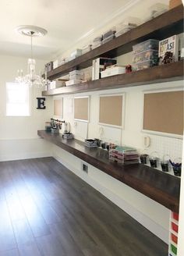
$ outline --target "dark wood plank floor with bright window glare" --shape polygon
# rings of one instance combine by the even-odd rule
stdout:
[[[168,246],[54,158],[0,162],[1,256],[166,256]]]

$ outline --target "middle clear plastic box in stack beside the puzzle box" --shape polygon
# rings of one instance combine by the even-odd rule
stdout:
[[[135,55],[133,55],[133,63],[140,63],[145,62],[147,60],[154,60],[158,57],[158,51],[157,50],[148,50],[146,52],[140,52]]]

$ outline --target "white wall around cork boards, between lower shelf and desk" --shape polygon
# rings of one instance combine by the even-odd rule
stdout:
[[[63,97],[63,119],[71,124],[71,131],[76,134],[76,138],[84,139],[83,126],[87,126],[87,137],[101,137],[102,140],[115,144],[126,144],[138,148],[140,151],[147,151],[151,155],[157,151],[159,158],[169,155],[172,160],[182,158],[182,138],[161,136],[153,133],[143,133],[143,92],[161,90],[182,90],[182,81],[175,81],[162,84],[150,84],[140,87],[129,87],[108,91],[87,92],[83,94],[64,95]],[[101,94],[125,94],[125,115],[124,127],[113,128],[102,126],[98,123],[99,116],[99,95]],[[90,121],[82,123],[73,119],[73,98],[76,96],[90,96]],[[61,96],[55,96],[59,98]],[[168,113],[169,118],[169,113]],[[76,125],[76,126],[75,126]],[[79,128],[77,128],[79,126]],[[104,134],[100,136],[100,127],[103,127]],[[79,137],[80,135],[80,137]],[[145,148],[143,137],[150,137],[150,147]],[[170,172],[172,174],[172,171]]]

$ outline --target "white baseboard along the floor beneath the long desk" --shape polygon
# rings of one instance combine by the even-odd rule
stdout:
[[[79,172],[79,170],[74,168],[73,165],[71,165],[69,162],[66,162],[65,159],[62,159],[60,155],[57,155],[54,152],[53,157],[58,162],[62,163],[62,165],[64,165],[66,168],[74,172],[76,176],[79,176],[82,180],[90,184],[91,187],[94,187],[94,189],[99,191],[110,201],[118,205],[119,208],[121,208],[124,212],[133,217],[133,219],[136,219],[137,222],[140,222],[140,224],[143,225],[145,228],[149,229],[151,233],[154,233],[157,237],[159,237],[166,244],[168,244],[168,230],[164,229],[162,226],[154,222],[152,219],[148,218],[147,215],[143,215],[142,212],[138,211],[136,208],[133,208],[132,205],[128,204],[117,194],[112,193],[111,190],[108,190],[106,187],[103,187],[100,183],[97,183],[96,180],[93,180],[90,176],[87,176],[86,173]]]

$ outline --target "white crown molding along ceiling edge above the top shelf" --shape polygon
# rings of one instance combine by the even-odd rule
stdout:
[[[101,28],[105,27],[108,23],[110,23],[112,20],[118,18],[119,16],[122,16],[123,13],[125,13],[127,10],[133,7],[133,5],[136,5],[141,0],[130,0],[126,5],[124,5],[122,8],[116,10],[115,12],[111,13],[111,16],[109,16],[107,19],[103,20],[97,27],[95,27],[92,30],[89,30],[87,33],[83,34],[81,37],[76,39],[76,41],[73,41],[73,44],[69,45],[69,48],[73,48],[75,44],[80,43],[80,41],[86,40],[87,37],[91,37],[97,30],[101,30]],[[69,50],[69,48],[65,49],[65,51],[58,51],[55,53],[55,57],[58,55],[62,55],[63,52],[66,52]]]

